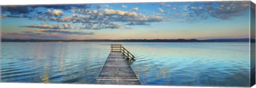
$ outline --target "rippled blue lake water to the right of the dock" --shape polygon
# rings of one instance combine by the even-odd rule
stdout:
[[[249,43],[141,43],[125,46],[135,56],[140,56],[132,68],[142,84],[249,84]],[[239,80],[242,78],[243,82]]]

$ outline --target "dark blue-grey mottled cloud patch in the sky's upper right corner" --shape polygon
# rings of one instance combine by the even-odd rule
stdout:
[[[218,18],[221,20],[231,20],[233,17],[244,14],[247,7],[250,6],[250,2],[249,1],[204,2],[200,7],[195,7],[195,6],[191,5],[189,10],[194,11],[197,17],[206,17],[205,14],[208,14],[213,18]]]

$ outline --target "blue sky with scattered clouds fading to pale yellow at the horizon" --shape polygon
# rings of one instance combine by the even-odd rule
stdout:
[[[249,38],[250,1],[1,6],[10,39]],[[255,6],[252,8],[255,13]]]

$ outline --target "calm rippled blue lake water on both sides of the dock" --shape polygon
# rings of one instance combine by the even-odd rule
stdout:
[[[249,43],[1,43],[1,82],[93,84],[123,44],[143,85],[249,86]]]

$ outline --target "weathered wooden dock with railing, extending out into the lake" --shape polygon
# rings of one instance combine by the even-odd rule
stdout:
[[[111,45],[111,52],[101,69],[96,84],[140,85],[139,78],[127,59],[135,60],[135,57],[122,45]]]

